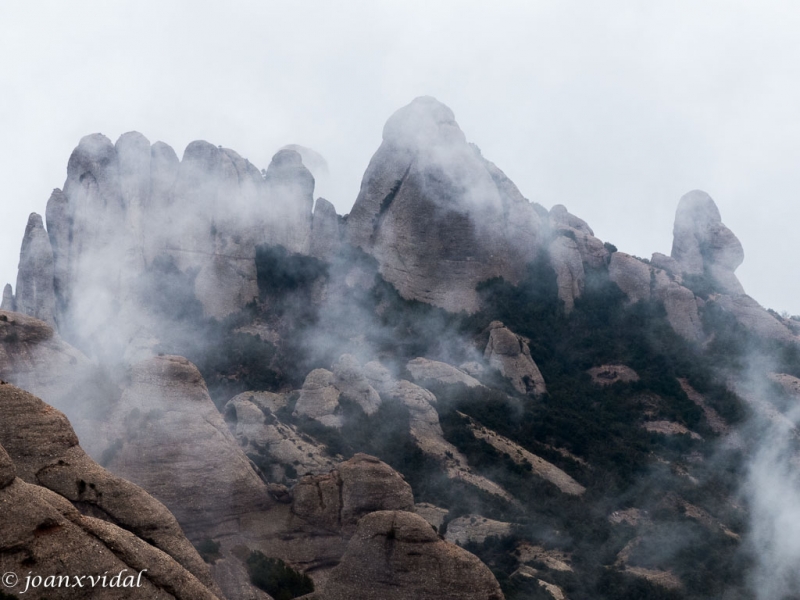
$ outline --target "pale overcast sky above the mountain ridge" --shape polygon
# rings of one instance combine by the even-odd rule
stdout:
[[[717,201],[762,304],[800,314],[796,2],[0,3],[0,283],[86,134],[195,139],[265,168],[328,160],[346,213],[386,119],[419,95],[545,207],[669,254],[680,196]]]

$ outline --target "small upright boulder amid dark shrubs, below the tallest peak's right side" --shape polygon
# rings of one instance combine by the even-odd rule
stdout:
[[[500,321],[489,325],[489,343],[483,357],[509,379],[519,393],[538,396],[547,392],[544,377],[531,358],[527,340]]]

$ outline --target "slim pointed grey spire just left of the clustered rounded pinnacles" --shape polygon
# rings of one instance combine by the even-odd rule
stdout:
[[[53,277],[50,238],[44,230],[42,217],[31,213],[25,228],[25,237],[22,238],[14,306],[18,312],[36,317],[51,327],[56,326]]]

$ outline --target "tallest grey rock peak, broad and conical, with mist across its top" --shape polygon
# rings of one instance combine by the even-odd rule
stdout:
[[[518,281],[541,228],[534,205],[467,143],[453,112],[421,97],[386,123],[347,239],[378,260],[404,297],[475,311],[475,286]]]

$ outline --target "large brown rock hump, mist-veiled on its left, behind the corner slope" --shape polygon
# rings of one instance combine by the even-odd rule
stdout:
[[[194,365],[160,356],[128,378],[107,419],[111,471],[161,500],[192,538],[238,533],[273,504]]]

